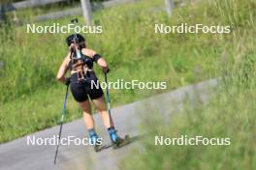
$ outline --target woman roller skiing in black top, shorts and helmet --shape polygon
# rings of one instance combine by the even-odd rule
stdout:
[[[104,93],[101,87],[91,87],[94,82],[97,84],[98,78],[93,71],[93,63],[98,64],[102,70],[109,71],[107,62],[92,49],[86,47],[85,39],[80,34],[73,34],[66,39],[70,48],[67,56],[62,62],[57,73],[57,80],[70,84],[70,89],[74,99],[76,99],[82,109],[83,121],[88,130],[90,142],[94,145],[95,151],[100,150],[99,137],[95,131],[94,120],[90,111],[90,102],[92,100],[95,107],[99,110],[104,126],[108,129],[112,143],[119,145],[124,141],[120,138],[112,125],[107,106],[104,100]],[[70,70],[71,76],[65,77],[66,72]]]

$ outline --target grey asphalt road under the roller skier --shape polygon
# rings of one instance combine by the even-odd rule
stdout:
[[[95,153],[91,146],[69,145],[60,146],[57,164],[53,164],[56,146],[27,145],[27,137],[49,138],[57,135],[59,127],[48,128],[28,136],[0,145],[0,170],[117,170],[119,161],[129,153],[129,150],[140,149],[140,125],[145,117],[157,112],[170,121],[170,113],[174,109],[182,109],[182,100],[189,101],[191,105],[195,99],[203,102],[208,100],[209,89],[217,84],[216,79],[208,80],[196,85],[186,86],[175,91],[160,94],[155,97],[133,102],[112,109],[112,117],[118,133],[122,136],[129,134],[131,144],[118,150],[109,147],[111,142],[107,130],[103,127],[98,114],[94,115],[97,131],[104,139],[107,149]],[[71,122],[63,126],[62,137],[75,136],[84,138],[87,132],[82,120]]]

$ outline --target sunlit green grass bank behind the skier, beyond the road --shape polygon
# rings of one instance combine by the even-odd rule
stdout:
[[[104,33],[85,37],[88,46],[107,59],[112,70],[109,74],[111,81],[123,78],[126,81],[139,79],[168,83],[166,90],[112,90],[112,106],[218,76],[221,72],[218,66],[223,64],[220,61],[226,57],[223,51],[233,46],[233,38],[241,30],[252,27],[252,22],[246,20],[253,17],[245,12],[253,9],[250,6],[244,10],[248,3],[241,6],[242,15],[231,19],[225,16],[225,13],[233,14],[231,10],[216,13],[217,5],[213,3],[209,6],[208,2],[176,8],[171,19],[164,11],[152,11],[163,5],[162,0],[142,1],[94,14],[94,22],[103,25]],[[79,16],[79,19],[82,20],[82,17]],[[68,24],[69,21],[70,17],[37,24]],[[231,24],[236,34],[154,33],[154,23],[179,25],[181,22]],[[0,69],[2,143],[56,125],[65,87],[56,82],[55,75],[68,50],[65,44],[68,35],[27,34],[25,26],[14,25],[1,27],[0,32],[0,62],[4,64]],[[101,71],[96,71],[103,81]],[[70,98],[67,121],[80,118],[79,110],[74,99]]]

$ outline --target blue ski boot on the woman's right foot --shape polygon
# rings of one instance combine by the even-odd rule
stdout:
[[[112,148],[117,149],[123,147],[129,143],[129,135],[125,135],[124,138],[121,138],[117,135],[116,130],[114,128],[108,128],[110,133],[110,137],[112,140]]]

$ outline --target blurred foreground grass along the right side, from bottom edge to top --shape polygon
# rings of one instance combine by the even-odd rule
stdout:
[[[196,102],[183,111],[174,109],[167,118],[146,119],[142,128],[148,131],[141,150],[132,151],[120,163],[122,169],[247,169],[256,168],[256,50],[255,1],[208,1],[208,13],[221,14],[222,20],[234,25],[229,42],[223,43],[218,70],[222,77],[212,91],[208,104]],[[214,6],[212,6],[214,4]],[[240,10],[238,10],[240,8]],[[254,9],[254,10],[253,10]],[[215,13],[213,13],[215,11]],[[216,13],[221,12],[221,13]],[[226,40],[227,41],[227,40]],[[184,101],[185,102],[185,101]],[[164,104],[164,101],[163,101]],[[153,125],[153,126],[148,126]],[[155,136],[175,138],[231,138],[230,146],[155,146]]]

